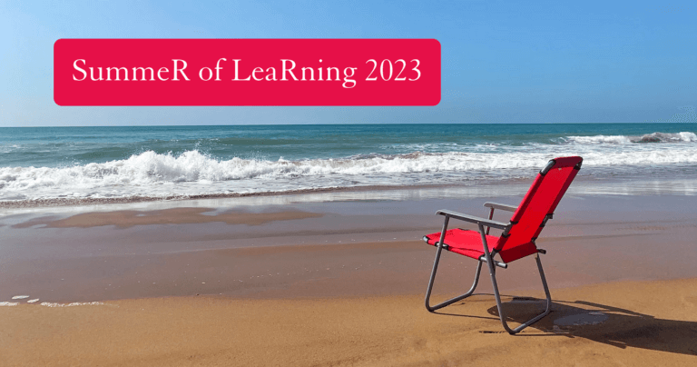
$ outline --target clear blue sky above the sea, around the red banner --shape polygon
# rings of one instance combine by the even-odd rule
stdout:
[[[0,0],[0,126],[637,123],[697,104],[693,2]],[[60,107],[59,38],[437,38],[435,107]],[[697,122],[697,121],[692,121]]]

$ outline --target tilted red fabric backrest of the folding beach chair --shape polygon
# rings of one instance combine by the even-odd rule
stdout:
[[[508,234],[502,235],[496,243],[496,252],[501,254],[504,262],[537,252],[535,239],[574,181],[582,162],[583,158],[575,156],[556,158],[537,174],[535,182],[511,217],[513,225]]]

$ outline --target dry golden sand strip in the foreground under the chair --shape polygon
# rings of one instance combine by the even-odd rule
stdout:
[[[697,363],[697,279],[607,283],[553,295],[554,312],[516,336],[502,332],[486,294],[437,313],[427,312],[419,295],[23,304],[0,308],[0,354],[5,366]],[[512,322],[541,307],[507,300]]]

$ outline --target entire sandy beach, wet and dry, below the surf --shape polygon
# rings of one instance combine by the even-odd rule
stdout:
[[[693,196],[568,194],[538,241],[553,312],[518,336],[486,274],[466,302],[423,305],[433,213],[485,215],[487,200],[520,197],[8,213],[0,354],[10,366],[697,362]],[[435,297],[464,292],[475,266],[448,253]],[[498,277],[510,322],[539,312],[532,257]]]

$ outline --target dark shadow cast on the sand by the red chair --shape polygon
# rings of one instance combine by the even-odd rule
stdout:
[[[525,322],[531,314],[545,310],[545,300],[512,298],[502,304],[506,321],[512,326],[514,322]],[[496,305],[487,311],[498,320]],[[436,313],[467,317],[464,314]],[[632,347],[697,356],[697,322],[659,319],[604,304],[554,301],[552,312],[530,328],[542,333],[529,330],[517,335],[584,338],[623,349]],[[496,330],[498,332],[501,331]]]

